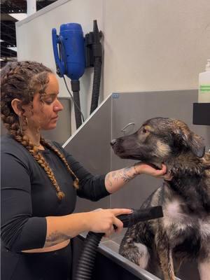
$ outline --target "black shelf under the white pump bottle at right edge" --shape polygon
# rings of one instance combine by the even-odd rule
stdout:
[[[210,125],[210,103],[193,103],[193,125]]]

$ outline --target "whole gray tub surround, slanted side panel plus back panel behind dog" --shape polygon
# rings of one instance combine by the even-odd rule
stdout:
[[[113,138],[123,136],[123,132],[120,130],[128,123],[133,122],[135,125],[130,126],[125,134],[136,131],[148,118],[158,116],[179,118],[185,121],[193,131],[205,139],[205,144],[209,148],[210,127],[192,124],[193,102],[197,102],[197,90],[112,94],[86,121],[85,125],[69,139],[66,150],[93,174],[103,174],[110,170],[133,165],[134,161],[122,160],[114,155],[109,142]],[[99,202],[78,199],[76,211],[88,211],[98,207],[139,208],[146,197],[161,183],[160,179],[141,175],[118,193]],[[122,237],[123,235],[111,237],[116,248]],[[182,280],[198,280],[195,263],[183,266],[179,277]],[[151,277],[151,279],[153,278]]]

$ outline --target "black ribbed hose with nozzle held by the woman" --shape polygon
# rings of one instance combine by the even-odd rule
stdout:
[[[157,206],[148,209],[134,210],[132,214],[120,215],[118,218],[123,222],[123,227],[127,228],[141,221],[161,218],[162,216],[162,207]],[[99,246],[99,242],[101,241],[103,235],[104,233],[88,232],[85,239],[83,252],[80,255],[78,262],[75,280],[91,279],[97,247]]]

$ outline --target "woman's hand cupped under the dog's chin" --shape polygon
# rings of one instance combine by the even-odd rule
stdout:
[[[137,172],[137,174],[148,174],[155,178],[161,178],[167,181],[171,181],[173,178],[170,172],[167,173],[167,167],[166,165],[163,164],[162,164],[162,169],[155,169],[151,167],[151,165],[147,165],[144,162],[139,162],[136,165],[134,165],[134,169]]]

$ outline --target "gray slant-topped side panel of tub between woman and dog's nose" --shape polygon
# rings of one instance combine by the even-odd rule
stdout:
[[[111,99],[108,99],[76,132],[65,148],[92,174],[106,174],[110,170],[110,139]],[[78,198],[76,211],[109,207],[110,197],[105,197],[99,202]]]

